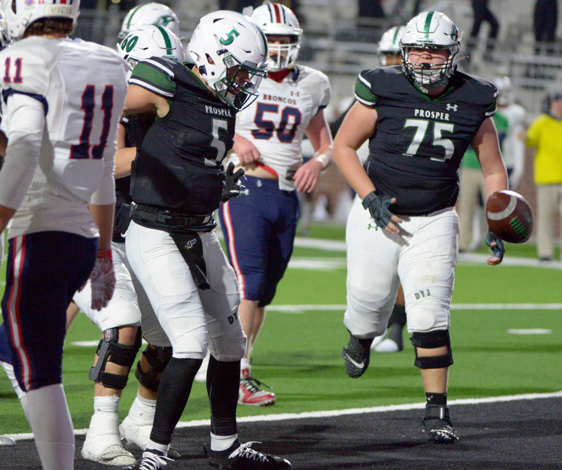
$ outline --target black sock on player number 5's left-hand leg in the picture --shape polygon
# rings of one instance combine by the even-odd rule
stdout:
[[[171,358],[158,386],[156,413],[150,439],[157,444],[170,444],[172,433],[191,393],[195,374],[202,359]]]

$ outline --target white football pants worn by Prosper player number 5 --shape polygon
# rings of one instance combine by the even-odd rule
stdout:
[[[129,263],[170,339],[175,358],[203,359],[209,346],[217,360],[239,360],[246,351],[246,335],[238,319],[236,276],[215,231],[199,236],[211,284],[208,290],[196,287],[169,233],[134,221],[125,237]]]

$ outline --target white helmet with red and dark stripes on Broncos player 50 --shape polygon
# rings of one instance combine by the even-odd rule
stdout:
[[[290,44],[268,42],[268,70],[277,72],[294,66],[302,41],[302,29],[294,13],[280,3],[266,1],[253,11],[251,18],[264,31],[268,40],[269,35],[291,37]]]

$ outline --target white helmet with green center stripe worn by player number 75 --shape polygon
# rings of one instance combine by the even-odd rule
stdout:
[[[412,64],[411,48],[446,49],[445,64]],[[417,85],[427,86],[448,79],[455,73],[460,49],[459,30],[451,19],[439,11],[424,11],[408,21],[400,40],[402,67]]]

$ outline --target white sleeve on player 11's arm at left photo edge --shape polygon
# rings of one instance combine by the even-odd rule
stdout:
[[[45,109],[37,98],[14,93],[3,106],[2,120],[8,147],[0,171],[0,204],[17,210],[39,164]]]

